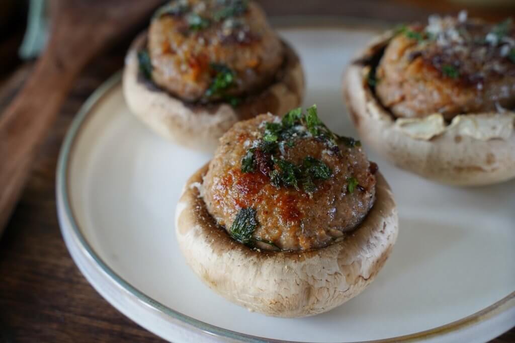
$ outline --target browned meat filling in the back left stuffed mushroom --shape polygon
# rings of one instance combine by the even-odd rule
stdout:
[[[231,101],[271,82],[283,46],[253,2],[175,0],[151,21],[148,57],[152,81],[171,94]]]

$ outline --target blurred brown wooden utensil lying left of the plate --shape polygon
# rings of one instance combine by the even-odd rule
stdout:
[[[137,26],[160,0],[55,0],[42,56],[0,117],[0,234],[72,82],[102,48]],[[122,7],[123,6],[123,7]],[[92,34],[94,32],[94,34]],[[34,115],[37,113],[38,115]]]

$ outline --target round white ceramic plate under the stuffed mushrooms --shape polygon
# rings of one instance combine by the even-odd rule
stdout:
[[[355,135],[341,74],[373,32],[290,28],[281,34],[304,63],[304,105],[316,102],[329,127]],[[314,317],[250,313],[217,296],[185,265],[174,210],[187,177],[210,156],[140,124],[125,105],[119,75],[84,105],[64,142],[57,175],[62,233],[102,296],[175,342],[486,341],[515,325],[515,182],[452,188],[369,157],[398,202],[398,242],[362,295]]]

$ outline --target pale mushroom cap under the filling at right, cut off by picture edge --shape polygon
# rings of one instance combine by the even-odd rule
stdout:
[[[367,82],[367,64],[388,44],[377,37],[350,64],[343,93],[361,139],[394,165],[453,185],[485,185],[515,177],[515,113],[459,114],[450,124],[439,113],[396,119]]]

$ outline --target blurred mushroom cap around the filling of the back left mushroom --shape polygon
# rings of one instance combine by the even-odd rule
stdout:
[[[302,66],[293,48],[284,41],[285,60],[276,80],[261,93],[245,97],[236,107],[226,102],[188,103],[145,80],[137,56],[145,43],[146,31],[134,39],[128,51],[123,72],[125,100],[136,117],[177,144],[212,152],[220,136],[234,123],[267,111],[283,114],[302,102]]]

